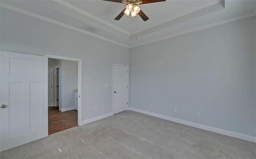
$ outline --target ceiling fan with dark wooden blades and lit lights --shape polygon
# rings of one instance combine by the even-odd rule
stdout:
[[[126,4],[126,8],[115,18],[115,20],[120,20],[124,14],[127,16],[130,15],[134,17],[137,14],[144,20],[147,21],[149,18],[140,10],[140,7],[138,7],[138,4],[148,4],[148,3],[155,3],[155,2],[163,2],[166,0],[104,0],[104,1],[110,1],[110,2],[117,2],[117,3],[124,3]]]

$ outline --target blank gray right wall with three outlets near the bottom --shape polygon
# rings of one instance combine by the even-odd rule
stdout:
[[[256,136],[255,35],[252,17],[130,49],[129,106]]]

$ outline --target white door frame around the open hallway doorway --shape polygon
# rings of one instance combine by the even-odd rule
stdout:
[[[78,125],[82,125],[82,59],[74,59],[70,57],[62,57],[55,55],[44,55],[51,59],[69,60],[78,62]]]

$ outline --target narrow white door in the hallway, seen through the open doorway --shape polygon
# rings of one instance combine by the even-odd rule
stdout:
[[[53,68],[48,68],[48,107],[54,106],[53,99]]]

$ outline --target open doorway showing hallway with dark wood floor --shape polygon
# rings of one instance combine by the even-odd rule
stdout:
[[[80,121],[80,61],[61,58],[48,57],[49,135],[78,126]]]

